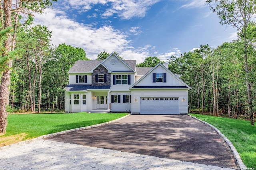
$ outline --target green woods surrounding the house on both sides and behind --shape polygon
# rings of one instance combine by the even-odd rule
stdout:
[[[11,0],[0,2],[1,120],[7,119],[7,116],[2,117],[2,113],[6,115],[5,110],[8,113],[63,111],[67,72],[77,60],[88,60],[86,51],[66,44],[51,45],[52,32],[46,26],[31,27],[32,13],[51,6],[51,0],[23,0],[20,2],[24,4],[17,8],[5,6],[11,4]],[[211,0],[206,2],[212,3]],[[256,24],[253,22],[256,2],[222,0],[216,3],[212,11],[218,14],[221,24],[238,29],[238,39],[215,49],[205,44],[180,56],[172,55],[168,59],[168,69],[182,75],[180,78],[192,87],[188,94],[190,112],[236,119],[239,116],[250,119],[253,125],[252,116],[256,113]],[[97,59],[102,60],[108,54],[99,51]],[[159,62],[163,61],[149,56],[137,67],[154,67]],[[5,102],[9,103],[6,108]]]

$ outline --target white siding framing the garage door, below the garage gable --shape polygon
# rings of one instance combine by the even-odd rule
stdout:
[[[140,113],[140,98],[141,97],[175,97],[179,98],[180,113],[188,113],[188,89],[132,89],[132,113]],[[137,99],[137,101],[135,101]],[[183,101],[185,99],[185,101]]]

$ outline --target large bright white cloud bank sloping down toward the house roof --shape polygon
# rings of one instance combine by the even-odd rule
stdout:
[[[102,26],[96,29],[92,25],[69,19],[63,11],[53,9],[47,9],[42,15],[35,14],[34,19],[34,25],[45,25],[48,30],[52,31],[51,43],[56,46],[66,43],[73,47],[81,47],[89,59],[96,59],[98,53],[102,51],[108,53],[116,51],[124,59],[136,59],[137,63],[143,62],[146,57],[150,56],[151,45],[135,49],[129,45],[128,37],[112,26]]]

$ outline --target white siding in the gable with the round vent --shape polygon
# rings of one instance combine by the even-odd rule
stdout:
[[[111,59],[115,59],[116,63],[112,64]],[[116,58],[114,55],[109,57],[107,60],[103,62],[103,64],[111,71],[132,71],[126,64]]]

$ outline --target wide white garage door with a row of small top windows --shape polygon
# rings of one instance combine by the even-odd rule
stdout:
[[[171,115],[180,114],[179,98],[141,97],[140,114]]]

